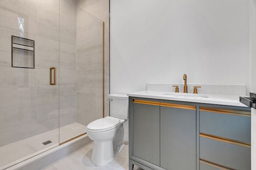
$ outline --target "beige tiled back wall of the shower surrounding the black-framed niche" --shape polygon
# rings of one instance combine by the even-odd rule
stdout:
[[[60,125],[76,121],[76,8],[71,4],[0,1],[0,147],[59,127],[59,86]],[[11,67],[11,35],[35,41],[35,69]],[[57,80],[60,76],[56,86],[49,85],[50,67],[57,68]]]

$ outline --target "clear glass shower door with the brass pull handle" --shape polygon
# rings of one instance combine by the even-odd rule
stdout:
[[[34,46],[12,43],[12,35],[30,39]],[[22,66],[33,56],[24,49],[34,52],[34,66],[31,62],[25,65],[31,68],[12,67],[12,55]],[[59,76],[59,2],[1,0],[0,56],[0,169],[4,169],[59,143],[59,84],[50,85],[51,67]]]

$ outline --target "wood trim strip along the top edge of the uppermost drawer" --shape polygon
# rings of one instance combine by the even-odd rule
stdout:
[[[218,108],[210,108],[210,107],[200,107],[200,111],[208,111],[208,112],[222,113],[222,114],[228,114],[228,115],[251,117],[251,112],[250,111],[218,109]]]

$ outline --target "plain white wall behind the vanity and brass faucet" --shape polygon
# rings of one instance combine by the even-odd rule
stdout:
[[[111,0],[110,93],[148,82],[246,84],[248,0]]]

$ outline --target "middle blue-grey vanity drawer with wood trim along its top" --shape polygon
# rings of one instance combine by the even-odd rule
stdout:
[[[237,170],[250,170],[251,148],[249,145],[200,135],[200,160]]]

